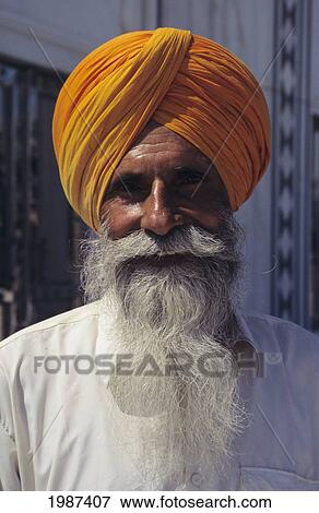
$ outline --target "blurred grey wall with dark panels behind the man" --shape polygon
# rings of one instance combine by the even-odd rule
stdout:
[[[260,80],[272,163],[238,219],[245,307],[319,331],[319,2],[0,0],[0,338],[81,303],[76,240],[51,145],[58,91],[94,47],[176,26],[212,37]]]

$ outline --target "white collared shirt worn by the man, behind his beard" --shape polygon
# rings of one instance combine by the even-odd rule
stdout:
[[[80,373],[88,363],[79,360],[76,370],[74,358],[67,372],[67,356],[113,354],[111,315],[99,314],[98,305],[56,315],[0,344],[0,490],[142,489],[141,469],[115,441],[109,377]],[[182,486],[165,482],[160,489],[319,490],[319,341],[270,315],[238,312],[237,319],[243,338],[263,355],[263,377],[256,369],[239,377],[251,421],[235,441],[236,457],[217,482],[194,466]],[[44,360],[50,356],[56,360]],[[62,370],[45,370],[45,361],[52,371],[61,356]],[[127,415],[118,415],[126,422]]]

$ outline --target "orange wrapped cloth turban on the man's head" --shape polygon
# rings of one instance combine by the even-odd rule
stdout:
[[[64,193],[96,231],[111,176],[151,118],[211,159],[233,211],[267,169],[267,103],[238,57],[190,31],[161,27],[122,34],[76,65],[54,112],[54,147]]]

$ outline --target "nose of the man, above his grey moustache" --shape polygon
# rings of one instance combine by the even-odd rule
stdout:
[[[155,179],[152,183],[152,190],[143,204],[141,229],[164,236],[182,224],[182,215],[174,213],[169,204],[167,186],[163,180]]]

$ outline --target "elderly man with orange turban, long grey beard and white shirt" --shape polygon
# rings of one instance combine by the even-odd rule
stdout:
[[[270,156],[247,67],[125,34],[67,80],[54,143],[96,232],[86,305],[1,343],[2,489],[319,490],[318,341],[239,308],[233,212]]]

